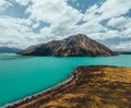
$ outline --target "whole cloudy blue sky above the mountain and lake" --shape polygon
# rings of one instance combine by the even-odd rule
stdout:
[[[130,0],[0,0],[0,46],[26,48],[85,34],[131,50]]]

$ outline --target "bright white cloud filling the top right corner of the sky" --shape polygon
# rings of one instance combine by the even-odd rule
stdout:
[[[102,13],[100,19],[110,19],[126,14],[130,9],[130,0],[106,0],[98,12]]]

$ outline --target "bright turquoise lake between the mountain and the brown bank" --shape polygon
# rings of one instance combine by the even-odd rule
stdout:
[[[0,106],[57,85],[78,65],[131,67],[131,55],[22,57],[14,53],[0,53]]]

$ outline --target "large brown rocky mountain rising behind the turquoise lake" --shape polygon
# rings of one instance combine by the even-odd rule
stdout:
[[[55,57],[96,57],[116,56],[106,46],[91,39],[90,37],[78,34],[62,40],[52,40],[47,44],[32,46],[19,55],[23,56],[55,56]]]

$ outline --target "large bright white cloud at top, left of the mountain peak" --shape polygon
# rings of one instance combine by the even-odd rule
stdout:
[[[33,5],[28,7],[26,12],[31,13],[31,20],[46,22],[51,25],[50,27],[41,28],[40,34],[52,39],[60,39],[60,37],[63,38],[71,35],[75,24],[83,17],[80,11],[68,5],[67,0],[39,2],[33,0]]]

